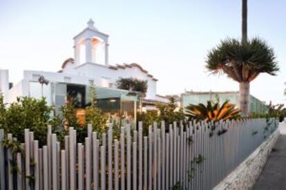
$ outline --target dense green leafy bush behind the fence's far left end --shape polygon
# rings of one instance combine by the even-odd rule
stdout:
[[[34,132],[39,145],[46,144],[47,125],[53,124],[51,117],[52,106],[47,106],[46,99],[30,97],[17,98],[17,102],[6,106],[3,104],[3,96],[0,95],[0,128],[6,134],[12,133],[19,142],[24,141],[24,129]]]

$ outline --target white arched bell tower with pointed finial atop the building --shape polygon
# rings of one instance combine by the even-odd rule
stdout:
[[[99,32],[92,19],[73,39],[76,66],[84,63],[108,65],[108,35]]]

